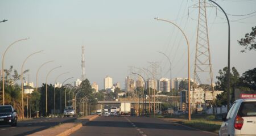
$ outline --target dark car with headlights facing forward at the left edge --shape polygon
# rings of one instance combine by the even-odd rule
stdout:
[[[0,124],[17,125],[17,113],[11,105],[0,105]]]

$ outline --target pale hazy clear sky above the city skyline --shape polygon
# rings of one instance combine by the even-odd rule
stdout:
[[[255,11],[255,0],[216,1],[228,14],[244,15]],[[35,1],[1,0],[0,54],[12,42],[27,38],[11,46],[5,55],[5,67],[11,65],[21,72],[24,59],[34,54],[24,63],[26,80],[34,82],[40,65],[47,63],[39,71],[39,86],[74,77],[66,83],[81,79],[81,46],[85,46],[85,73],[90,83],[96,82],[103,88],[104,78],[109,75],[113,82],[124,88],[125,77],[130,67],[144,67],[151,70],[150,63],[158,62],[158,77],[170,77],[168,59],[158,51],[166,53],[172,62],[172,78],[187,77],[187,45],[181,32],[170,23],[155,20],[155,17],[171,20],[186,33],[191,52],[191,78],[196,50],[196,30],[199,9],[192,7],[198,1],[191,0],[94,0],[94,1]],[[207,8],[210,55],[212,58],[213,80],[216,82],[218,70],[228,63],[228,25],[224,14],[215,7]],[[237,40],[251,32],[256,25],[256,14],[230,16],[231,56],[230,66],[236,67],[240,75],[256,67],[255,51],[246,51]],[[2,65],[2,61],[0,62]],[[144,75],[143,75],[144,76]],[[135,78],[135,76],[131,76]],[[207,79],[205,79],[207,80]]]

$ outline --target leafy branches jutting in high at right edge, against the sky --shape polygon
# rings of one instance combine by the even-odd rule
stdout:
[[[242,38],[240,41],[238,40],[238,44],[245,46],[246,50],[256,50],[256,26],[251,29],[252,31],[250,33],[245,34],[245,38]],[[245,49],[241,50],[241,52],[245,52]]]

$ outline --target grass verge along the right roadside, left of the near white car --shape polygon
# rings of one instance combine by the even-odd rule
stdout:
[[[215,116],[212,114],[192,114],[191,121],[188,121],[188,115],[174,115],[170,114],[167,116],[157,115],[154,117],[163,118],[163,120],[176,122],[178,124],[183,124],[186,126],[190,126],[191,128],[200,129],[204,131],[211,131],[214,133],[218,133],[220,126],[222,124],[221,120],[216,120]]]

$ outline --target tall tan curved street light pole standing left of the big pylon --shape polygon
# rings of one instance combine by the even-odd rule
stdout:
[[[188,39],[187,36],[185,35],[185,33],[183,32],[183,30],[176,25],[175,23],[172,23],[169,20],[165,20],[165,19],[159,19],[159,18],[155,18],[156,20],[160,20],[160,21],[164,21],[164,22],[168,22],[171,23],[173,25],[175,25],[175,27],[179,28],[179,30],[183,33],[183,36],[185,37],[185,40],[187,41],[187,46],[188,46],[188,120],[191,120],[191,109],[190,109],[190,58],[189,58],[189,44],[188,44]]]

